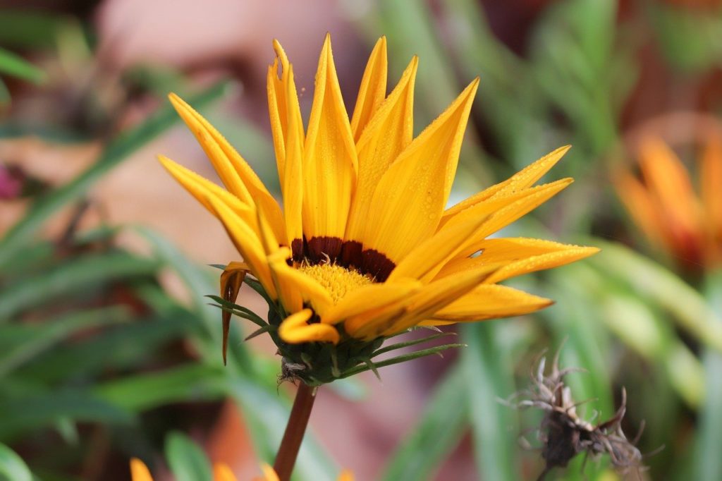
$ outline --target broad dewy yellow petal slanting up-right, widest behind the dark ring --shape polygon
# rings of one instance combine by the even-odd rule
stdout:
[[[371,201],[364,247],[399,262],[436,229],[456,173],[458,152],[479,81],[464,92],[391,164]]]

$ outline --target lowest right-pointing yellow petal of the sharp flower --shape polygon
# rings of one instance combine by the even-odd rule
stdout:
[[[551,306],[552,303],[552,300],[503,285],[479,285],[437,311],[433,318],[445,321],[481,321],[521,316]]]

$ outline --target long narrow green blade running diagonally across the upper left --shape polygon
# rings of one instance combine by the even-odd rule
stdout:
[[[225,90],[225,83],[222,82],[209,87],[198,95],[192,95],[186,100],[199,108],[220,97]],[[71,182],[38,199],[25,216],[0,241],[0,268],[17,255],[17,251],[26,245],[32,235],[43,225],[43,222],[55,214],[58,209],[82,197],[103,175],[177,121],[178,116],[173,107],[169,103],[164,103],[153,116],[110,142],[103,154],[100,155],[100,159],[90,168]],[[151,161],[149,160],[149,162]]]

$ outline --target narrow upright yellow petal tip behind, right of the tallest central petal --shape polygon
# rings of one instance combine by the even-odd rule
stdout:
[[[354,114],[351,116],[351,131],[354,135],[354,142],[358,142],[366,124],[386,97],[387,69],[386,37],[381,37],[377,40],[368,58],[366,70],[361,79]]]

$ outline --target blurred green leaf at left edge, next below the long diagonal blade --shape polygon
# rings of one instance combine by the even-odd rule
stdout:
[[[27,308],[127,277],[154,274],[158,262],[123,251],[72,258],[46,272],[13,282],[0,293],[0,324]]]

